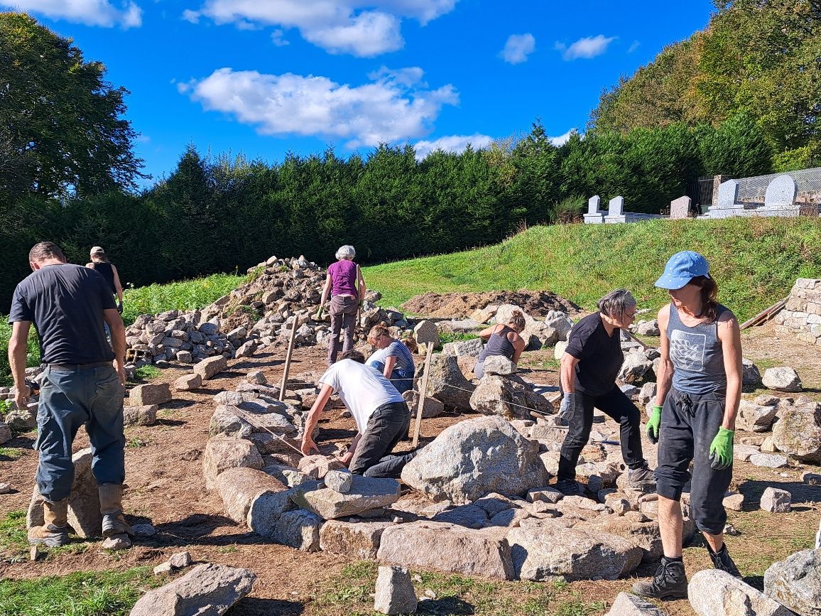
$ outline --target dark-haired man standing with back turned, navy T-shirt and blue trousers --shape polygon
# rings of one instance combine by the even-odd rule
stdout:
[[[122,516],[126,476],[122,431],[126,334],[122,319],[103,277],[66,263],[55,244],[47,241],[34,246],[29,263],[33,274],[17,285],[8,317],[12,325],[8,358],[18,407],[25,408],[31,395],[25,384],[25,347],[32,324],[46,365],[35,446],[39,452],[37,489],[45,500],[44,525],[29,529],[29,542],[49,547],[67,543],[68,497],[74,479],[71,443],[80,425],[85,425],[94,453],[91,471],[99,485],[103,536],[128,540],[131,526]],[[111,329],[111,345],[103,321]]]

